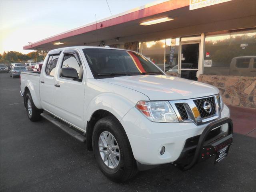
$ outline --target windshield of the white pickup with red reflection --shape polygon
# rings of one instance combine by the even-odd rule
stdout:
[[[154,64],[136,52],[95,48],[83,51],[94,78],[163,74]]]

